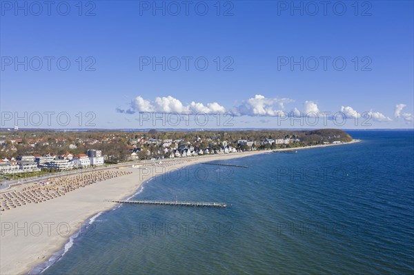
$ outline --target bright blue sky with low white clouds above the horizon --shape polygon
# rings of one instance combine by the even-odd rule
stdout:
[[[1,1],[1,127],[413,128],[413,1],[292,3]]]

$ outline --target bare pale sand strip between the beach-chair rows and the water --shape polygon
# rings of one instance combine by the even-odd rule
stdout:
[[[358,141],[351,141],[351,143],[355,142]],[[346,144],[349,143],[288,148],[280,151]],[[161,162],[164,167],[179,169],[206,161],[235,159],[270,152],[272,151],[193,156],[182,159],[165,159]],[[155,165],[155,163],[158,164]],[[72,190],[64,196],[42,203],[30,203],[2,211],[0,214],[0,274],[27,274],[33,267],[48,261],[52,254],[62,249],[70,236],[79,231],[80,226],[88,218],[117,205],[107,200],[127,198],[135,194],[142,183],[153,176],[160,175],[159,161],[142,163],[135,165],[135,167],[125,165],[125,167],[112,168],[109,171],[131,173]],[[7,192],[11,192],[11,190],[7,190]]]

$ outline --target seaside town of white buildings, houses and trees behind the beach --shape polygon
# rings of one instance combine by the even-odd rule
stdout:
[[[0,173],[55,172],[127,161],[186,158],[342,143],[341,130],[38,132],[0,134]]]

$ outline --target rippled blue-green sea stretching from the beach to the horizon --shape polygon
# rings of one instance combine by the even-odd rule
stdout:
[[[102,213],[43,274],[413,274],[413,131],[194,165]],[[67,246],[68,247],[68,246]]]

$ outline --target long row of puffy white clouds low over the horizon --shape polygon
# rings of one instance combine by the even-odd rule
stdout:
[[[365,116],[371,117],[373,121],[388,122],[393,121],[390,117],[382,114],[382,112],[373,112],[371,109],[368,112],[358,112],[351,106],[341,106],[339,110],[334,112],[327,112],[319,110],[316,101],[304,101],[303,109],[299,110],[297,107],[286,110],[286,104],[295,102],[294,99],[266,97],[262,94],[255,94],[254,97],[243,101],[241,104],[233,106],[233,108],[225,108],[217,102],[199,103],[191,101],[188,104],[182,103],[179,99],[172,96],[157,96],[154,100],[144,99],[142,96],[137,96],[130,102],[130,108],[124,110],[117,108],[117,112],[122,114],[135,114],[136,112],[157,112],[157,113],[200,113],[217,114],[230,112],[234,116],[306,116],[317,115],[327,116],[332,119],[333,113],[340,112],[346,119],[359,119]],[[406,104],[400,103],[395,105],[394,118],[403,119],[406,123],[413,123],[413,114],[402,112]]]

